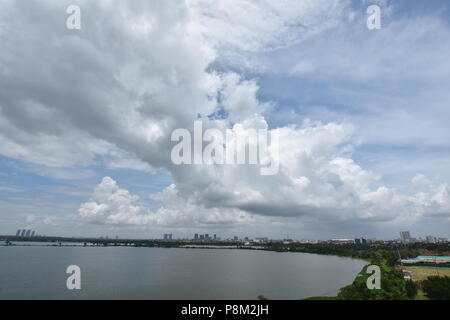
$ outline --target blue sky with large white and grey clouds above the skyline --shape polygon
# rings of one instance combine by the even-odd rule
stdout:
[[[450,237],[449,18],[438,0],[3,0],[0,234]],[[276,134],[279,172],[175,164],[195,121]]]

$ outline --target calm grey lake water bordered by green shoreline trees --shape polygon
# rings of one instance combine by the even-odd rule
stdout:
[[[82,289],[66,288],[69,265]],[[335,295],[364,261],[306,253],[0,247],[0,299],[301,299]]]

